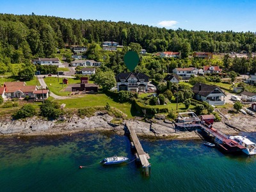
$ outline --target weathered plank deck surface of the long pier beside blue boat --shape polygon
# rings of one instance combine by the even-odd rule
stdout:
[[[129,123],[127,123],[126,126],[129,129],[129,132],[131,134],[132,142],[134,143],[134,146],[135,146],[136,151],[138,153],[138,157],[140,158],[140,162],[142,164],[142,167],[144,168],[144,167],[151,166],[151,164],[148,162],[148,159],[150,159],[150,157],[143,150],[143,148],[140,144],[140,140],[138,139],[138,136],[137,136],[137,134],[134,130],[134,127],[132,127],[132,125],[129,124]]]

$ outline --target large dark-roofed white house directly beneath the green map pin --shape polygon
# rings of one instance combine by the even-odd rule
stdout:
[[[143,73],[120,73],[116,77],[117,90],[130,92],[147,92],[148,76]]]

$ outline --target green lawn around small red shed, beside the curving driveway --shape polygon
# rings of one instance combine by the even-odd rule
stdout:
[[[68,94],[71,93],[71,92],[64,92],[68,84],[76,84],[81,82],[80,79],[77,80],[77,79],[69,78],[68,84],[62,84],[61,77],[59,77],[59,82],[58,82],[58,77],[46,77],[44,78],[44,81],[52,93],[60,96],[68,96]],[[89,83],[93,83],[93,81],[89,81]]]

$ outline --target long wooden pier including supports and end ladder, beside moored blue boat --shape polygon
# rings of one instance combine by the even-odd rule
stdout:
[[[126,124],[127,129],[130,132],[131,135],[131,147],[135,147],[137,153],[136,158],[138,161],[140,161],[142,168],[143,168],[143,173],[145,173],[146,176],[148,176],[151,173],[151,164],[148,162],[148,159],[150,159],[149,155],[143,150],[140,140],[138,139],[138,136],[134,130],[134,127],[132,124],[127,123]]]

